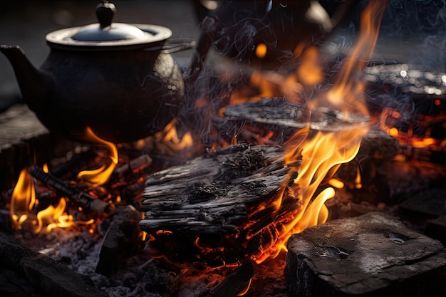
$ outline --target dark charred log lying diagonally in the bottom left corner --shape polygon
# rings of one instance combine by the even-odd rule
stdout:
[[[46,255],[31,251],[2,232],[0,232],[0,263],[24,276],[43,293],[43,296],[108,296],[96,288],[88,276],[76,273]]]

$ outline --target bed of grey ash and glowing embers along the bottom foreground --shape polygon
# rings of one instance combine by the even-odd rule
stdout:
[[[233,269],[214,271],[178,269],[162,259],[153,259],[142,249],[126,259],[113,276],[95,273],[96,262],[103,242],[91,226],[53,229],[47,234],[16,231],[16,239],[33,251],[46,254],[70,269],[88,276],[95,286],[110,297],[204,297],[217,288]],[[284,254],[255,266],[251,288],[245,295],[285,297]]]

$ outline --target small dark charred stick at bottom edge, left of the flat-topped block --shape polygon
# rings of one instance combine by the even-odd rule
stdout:
[[[254,276],[254,266],[246,262],[230,273],[212,292],[211,297],[233,297],[249,286]]]

